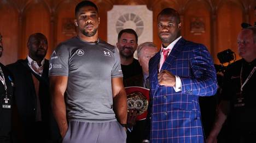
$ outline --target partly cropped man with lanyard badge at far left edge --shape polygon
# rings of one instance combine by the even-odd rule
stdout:
[[[0,33],[0,57],[3,53],[2,35]],[[4,65],[0,63],[0,142],[10,143],[11,133],[11,110],[13,106],[11,104],[13,100],[13,86],[14,83],[10,77],[9,71]]]

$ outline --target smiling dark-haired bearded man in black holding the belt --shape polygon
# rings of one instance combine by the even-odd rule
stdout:
[[[121,69],[124,74],[124,86],[139,86],[142,68],[133,53],[138,46],[138,36],[133,29],[123,29],[118,34],[117,47],[121,58]]]

